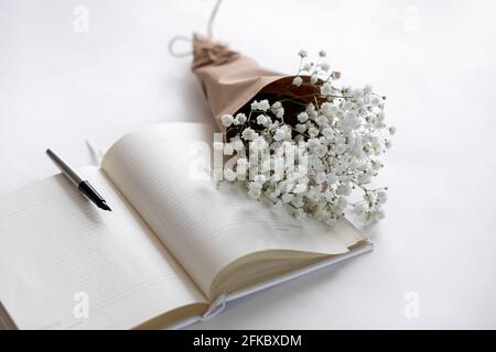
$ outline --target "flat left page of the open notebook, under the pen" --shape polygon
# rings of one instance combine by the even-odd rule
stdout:
[[[0,300],[18,327],[129,329],[206,302],[105,174],[83,174],[111,212],[62,175],[0,197]]]

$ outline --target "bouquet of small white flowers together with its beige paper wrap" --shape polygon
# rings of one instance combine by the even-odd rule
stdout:
[[[346,209],[382,219],[387,187],[371,182],[395,134],[385,123],[386,97],[368,85],[338,87],[325,52],[314,63],[305,51],[299,56],[296,74],[287,76],[194,36],[193,72],[223,132],[214,150],[228,158],[214,177],[330,226]]]

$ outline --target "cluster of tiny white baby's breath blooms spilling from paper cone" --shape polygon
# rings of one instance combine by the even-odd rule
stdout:
[[[215,147],[236,157],[224,179],[245,183],[251,197],[285,206],[295,217],[330,226],[347,209],[365,221],[382,219],[388,188],[370,185],[396,132],[385,123],[386,97],[369,85],[337,88],[341,73],[331,70],[323,51],[315,63],[306,51],[299,56],[289,87],[222,117],[228,142]],[[299,94],[303,88],[309,89]]]

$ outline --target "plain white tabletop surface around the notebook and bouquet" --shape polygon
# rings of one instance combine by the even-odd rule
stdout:
[[[76,6],[89,31],[74,31]],[[91,163],[165,121],[211,121],[188,58],[212,0],[0,0],[0,194],[54,174],[47,146]],[[226,0],[215,36],[293,73],[324,48],[342,82],[388,96],[398,128],[380,179],[376,250],[231,304],[197,328],[496,328],[496,22],[493,1]],[[408,319],[405,295],[419,297]]]

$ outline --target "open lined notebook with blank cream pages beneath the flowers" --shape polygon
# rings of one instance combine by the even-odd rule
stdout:
[[[347,220],[333,229],[295,220],[241,185],[192,177],[209,165],[197,152],[213,133],[152,125],[119,140],[101,168],[82,168],[112,212],[62,175],[1,197],[3,328],[177,328],[371,249]]]

